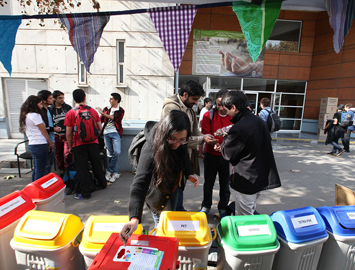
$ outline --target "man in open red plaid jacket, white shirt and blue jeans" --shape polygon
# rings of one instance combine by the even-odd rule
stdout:
[[[97,107],[96,110],[101,114],[101,122],[104,123],[101,131],[105,141],[105,147],[110,159],[110,165],[106,170],[105,178],[114,183],[119,177],[118,157],[121,154],[122,118],[124,110],[120,107],[121,95],[112,93],[110,96],[109,107]]]

